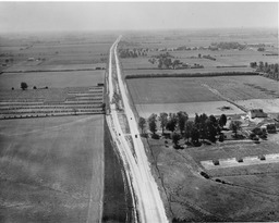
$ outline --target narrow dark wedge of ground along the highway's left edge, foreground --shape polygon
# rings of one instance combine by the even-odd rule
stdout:
[[[102,222],[132,222],[133,203],[124,166],[105,123],[105,185]]]

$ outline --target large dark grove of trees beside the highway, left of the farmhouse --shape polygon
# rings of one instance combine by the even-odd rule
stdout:
[[[220,119],[216,119],[214,115],[207,116],[204,114],[196,114],[194,121],[189,120],[186,112],[180,111],[178,113],[160,113],[151,114],[147,120],[140,117],[138,126],[144,133],[146,125],[148,124],[148,129],[151,132],[153,136],[156,136],[157,133],[157,122],[159,122],[162,135],[165,131],[169,131],[172,134],[172,141],[174,146],[178,146],[178,141],[181,138],[186,139],[187,143],[193,145],[201,144],[199,140],[210,140],[216,143],[217,138],[220,141],[223,140],[223,134],[221,129],[227,124],[227,116],[222,114]],[[230,123],[230,129],[236,136],[238,131],[241,128],[241,122],[233,121]]]

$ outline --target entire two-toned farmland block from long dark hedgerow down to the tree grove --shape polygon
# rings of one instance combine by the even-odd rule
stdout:
[[[217,90],[246,109],[264,109],[278,112],[279,85],[263,76],[214,76],[126,79],[130,94],[140,115],[151,113],[186,111],[220,115],[241,114],[242,110],[211,92]],[[222,109],[230,107],[230,109]]]

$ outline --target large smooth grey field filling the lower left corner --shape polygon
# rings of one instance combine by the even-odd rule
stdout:
[[[1,121],[0,221],[98,221],[102,139],[102,115]]]

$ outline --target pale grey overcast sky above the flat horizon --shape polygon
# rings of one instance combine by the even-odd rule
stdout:
[[[0,2],[0,30],[278,27],[278,3]]]

